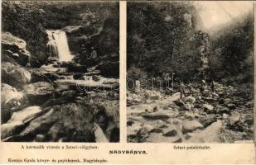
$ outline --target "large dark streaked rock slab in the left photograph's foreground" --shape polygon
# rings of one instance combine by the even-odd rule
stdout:
[[[27,141],[107,142],[104,126],[108,120],[103,106],[68,103],[52,106],[31,120],[17,137],[27,137]]]

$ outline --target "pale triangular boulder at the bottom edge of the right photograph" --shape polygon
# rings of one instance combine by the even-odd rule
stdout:
[[[187,143],[220,143],[222,122],[220,120],[208,126],[205,130],[192,135]]]

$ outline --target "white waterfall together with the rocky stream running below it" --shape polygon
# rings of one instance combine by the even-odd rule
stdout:
[[[50,57],[41,68],[27,68],[27,106],[2,123],[2,140],[118,142],[118,79],[104,78],[97,65],[75,64],[65,31],[46,33]]]

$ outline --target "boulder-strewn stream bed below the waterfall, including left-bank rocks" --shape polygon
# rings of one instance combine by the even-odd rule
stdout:
[[[118,79],[58,57],[32,68],[26,42],[9,33],[2,47],[2,141],[119,141]]]

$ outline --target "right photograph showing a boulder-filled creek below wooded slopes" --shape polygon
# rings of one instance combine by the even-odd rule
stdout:
[[[253,143],[253,2],[127,2],[128,143]]]

